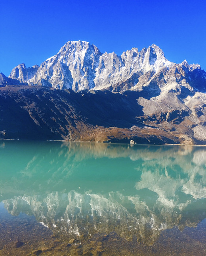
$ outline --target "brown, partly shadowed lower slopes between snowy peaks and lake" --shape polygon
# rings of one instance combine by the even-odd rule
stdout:
[[[145,99],[140,92],[56,90],[44,86],[0,89],[1,138],[141,144],[206,141],[204,93],[181,99]]]

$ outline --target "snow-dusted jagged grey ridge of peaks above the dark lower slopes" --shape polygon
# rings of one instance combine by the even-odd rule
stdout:
[[[9,78],[29,85],[45,85],[57,89],[109,89],[111,91],[142,91],[174,89],[178,85],[193,91],[206,90],[206,72],[186,60],[175,64],[167,60],[156,45],[140,52],[132,48],[121,56],[101,53],[85,41],[69,41],[59,52],[40,66],[26,68],[19,64]]]

